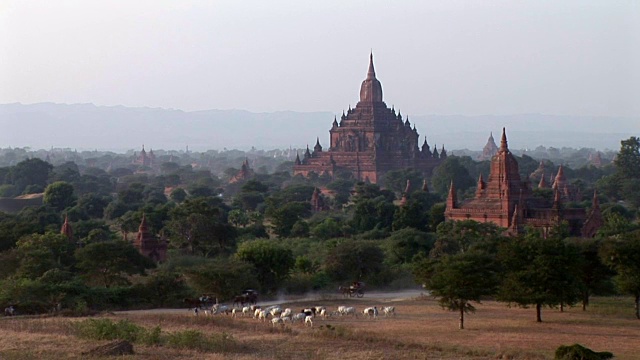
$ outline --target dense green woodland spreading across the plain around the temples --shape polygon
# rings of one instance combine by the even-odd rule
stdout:
[[[638,149],[638,138],[624,140],[602,167],[574,158],[584,151],[563,157],[549,149],[535,159],[536,149],[518,158],[523,178],[540,160],[552,171],[554,162],[582,164],[564,169],[582,194],[598,189],[605,224],[589,240],[567,238],[563,227],[546,238],[536,231],[507,238],[492,224],[445,222],[451,181],[462,201],[480,174],[488,176],[489,162],[470,156],[450,155],[424,191],[413,169],[389,172],[381,185],[345,172],[294,177],[292,155],[282,153],[158,152],[148,167],[131,155],[69,151],[45,161],[2,150],[0,307],[82,313],[180,306],[201,294],[229,301],[247,288],[269,296],[409,279],[458,311],[461,328],[473,303],[488,296],[534,306],[541,321],[544,307],[582,303],[586,310],[592,294],[630,294],[640,317]],[[255,171],[232,180],[248,155]],[[310,203],[315,188],[323,189],[322,211]],[[12,207],[19,195],[41,201]],[[65,217],[70,238],[60,234]],[[163,263],[132,246],[143,217],[169,246]]]

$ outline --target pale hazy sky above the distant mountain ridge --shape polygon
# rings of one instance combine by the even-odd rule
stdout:
[[[640,2],[4,1],[0,103],[640,116]]]

